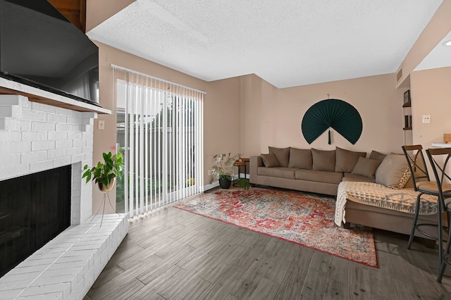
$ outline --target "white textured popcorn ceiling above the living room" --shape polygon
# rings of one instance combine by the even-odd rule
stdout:
[[[87,35],[202,80],[395,73],[443,0],[137,0]]]

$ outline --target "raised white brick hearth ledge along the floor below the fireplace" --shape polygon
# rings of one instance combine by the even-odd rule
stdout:
[[[0,299],[82,299],[128,232],[127,215],[101,217],[69,227],[1,277]]]

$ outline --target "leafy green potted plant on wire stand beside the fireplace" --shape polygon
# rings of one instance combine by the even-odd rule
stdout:
[[[122,176],[122,161],[123,156],[121,153],[118,154],[102,154],[104,157],[104,163],[97,163],[92,168],[85,165],[83,170],[85,171],[82,178],[86,178],[86,183],[90,180],[94,180],[99,186],[102,192],[109,192],[114,187],[114,182],[116,182],[116,177]]]

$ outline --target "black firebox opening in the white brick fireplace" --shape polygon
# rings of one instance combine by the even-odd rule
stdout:
[[[71,166],[0,181],[0,277],[70,226]]]

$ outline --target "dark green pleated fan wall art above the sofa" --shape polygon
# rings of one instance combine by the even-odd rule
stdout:
[[[339,99],[326,99],[311,106],[302,118],[302,135],[309,144],[329,128],[355,144],[362,135],[362,118],[351,104]],[[328,133],[330,144],[330,129]]]

